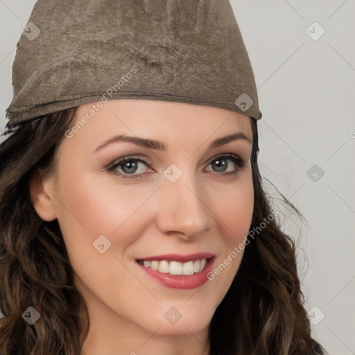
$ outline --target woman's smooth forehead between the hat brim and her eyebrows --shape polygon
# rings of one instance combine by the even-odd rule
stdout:
[[[80,105],[72,126],[87,125],[85,130],[144,131],[185,135],[213,135],[214,132],[240,130],[252,139],[251,118],[214,106],[169,101],[120,99],[107,103]],[[98,108],[99,107],[99,108]]]

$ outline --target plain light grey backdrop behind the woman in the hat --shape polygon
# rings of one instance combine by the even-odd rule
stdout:
[[[0,0],[1,133],[17,40],[34,3]],[[313,336],[330,354],[355,354],[355,1],[231,3],[263,113],[261,171],[308,223],[299,267]],[[318,40],[308,34],[320,33],[309,28],[314,21],[325,31]],[[322,177],[306,175],[313,164]],[[293,216],[286,225],[288,232],[297,231]]]

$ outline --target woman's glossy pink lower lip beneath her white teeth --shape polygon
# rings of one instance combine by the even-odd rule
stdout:
[[[169,288],[180,288],[182,290],[189,290],[197,288],[205,284],[208,280],[207,274],[211,271],[215,257],[207,260],[205,268],[201,272],[196,272],[193,275],[171,275],[169,273],[153,270],[141,265],[138,261],[136,263],[146,272],[149,277],[155,281]]]

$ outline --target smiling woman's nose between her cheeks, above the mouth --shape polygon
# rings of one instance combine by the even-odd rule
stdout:
[[[203,186],[191,174],[183,173],[175,182],[167,179],[159,189],[157,224],[164,234],[179,234],[184,239],[194,239],[207,228],[209,208],[204,198]]]

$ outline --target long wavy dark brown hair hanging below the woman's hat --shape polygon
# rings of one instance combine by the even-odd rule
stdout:
[[[38,169],[55,169],[55,153],[75,112],[6,125],[10,137],[0,145],[0,355],[80,355],[87,337],[87,306],[73,285],[58,221],[36,214],[28,189]],[[257,162],[257,121],[251,121],[254,230],[272,214],[272,204]],[[276,219],[264,225],[253,239],[248,236],[241,266],[211,320],[210,355],[324,354],[311,337],[295,243]],[[40,313],[33,325],[22,318],[29,306]]]

